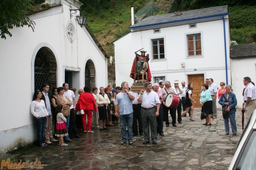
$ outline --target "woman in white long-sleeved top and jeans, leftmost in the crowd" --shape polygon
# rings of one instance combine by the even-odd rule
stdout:
[[[36,120],[37,138],[39,145],[41,147],[44,147],[47,145],[46,143],[44,143],[44,130],[48,113],[44,101],[40,99],[41,97],[42,92],[40,90],[35,91],[30,109],[32,115],[35,117]]]

